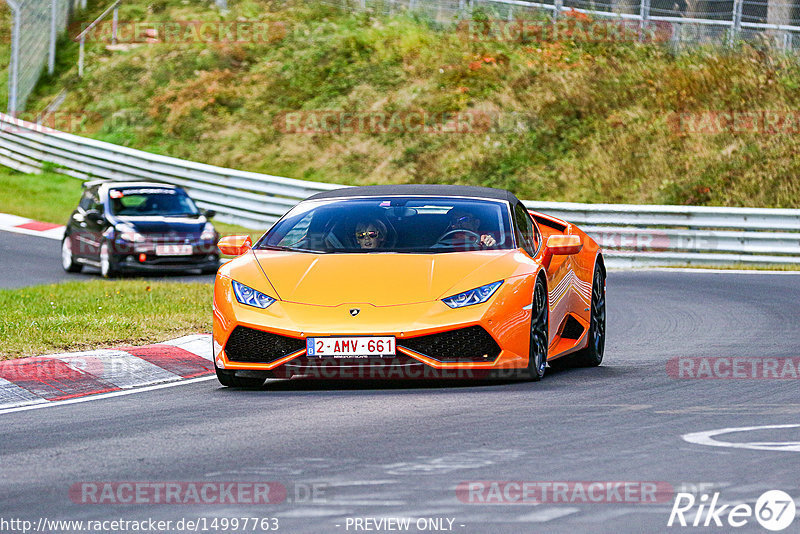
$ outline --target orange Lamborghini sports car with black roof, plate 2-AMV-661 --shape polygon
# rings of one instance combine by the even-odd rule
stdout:
[[[572,224],[483,187],[350,187],[316,194],[214,285],[225,386],[270,377],[523,376],[595,366],[605,266]]]

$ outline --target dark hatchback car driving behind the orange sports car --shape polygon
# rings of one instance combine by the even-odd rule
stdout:
[[[83,187],[61,242],[65,271],[216,272],[219,234],[208,222],[214,212],[198,209],[180,187],[105,180]]]

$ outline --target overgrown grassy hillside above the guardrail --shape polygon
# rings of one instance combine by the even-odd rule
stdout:
[[[121,20],[221,18],[179,0],[123,9]],[[800,207],[796,134],[685,134],[668,123],[673,112],[798,109],[800,63],[791,56],[746,45],[675,54],[635,42],[474,42],[409,15],[343,14],[302,0],[233,2],[224,18],[280,20],[290,31],[269,44],[112,52],[93,43],[86,76],[60,62],[30,109],[66,87],[62,110],[105,117],[82,135],[301,179],[489,185],[556,201]],[[63,57],[76,46],[65,43]],[[525,120],[457,135],[276,128],[282,112],[331,109]]]

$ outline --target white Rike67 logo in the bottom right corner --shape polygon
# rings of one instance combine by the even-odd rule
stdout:
[[[743,527],[753,518],[767,530],[780,531],[794,521],[795,504],[792,497],[780,490],[764,492],[755,506],[746,503],[721,504],[719,493],[696,498],[691,493],[678,493],[672,505],[667,526]]]

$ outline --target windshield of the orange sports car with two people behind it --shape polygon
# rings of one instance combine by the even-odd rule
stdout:
[[[504,202],[370,197],[302,202],[256,249],[309,252],[462,252],[513,248]]]

